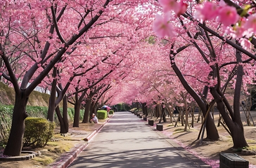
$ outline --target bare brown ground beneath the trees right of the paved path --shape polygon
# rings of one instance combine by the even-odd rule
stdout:
[[[155,119],[155,123],[158,123],[159,120]],[[236,153],[241,156],[241,158],[248,160],[250,167],[256,167],[256,156],[252,155],[243,155],[241,152],[236,151],[232,148],[233,141],[229,133],[226,132],[224,127],[219,126],[217,130],[219,132],[218,141],[207,141],[204,136],[203,141],[200,142],[198,139],[199,130],[201,123],[194,123],[194,127],[190,127],[186,132],[184,132],[184,126],[181,126],[181,123],[177,127],[174,127],[174,123],[162,123],[164,127],[164,133],[167,137],[174,139],[179,145],[186,148],[187,151],[193,153],[198,158],[203,160],[212,167],[219,167],[219,153]],[[256,127],[244,126],[245,130],[245,139],[250,146],[246,150],[255,152],[256,151],[256,139],[255,132]],[[197,140],[198,139],[198,140]]]

